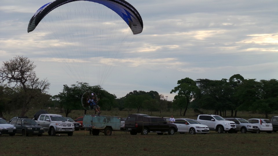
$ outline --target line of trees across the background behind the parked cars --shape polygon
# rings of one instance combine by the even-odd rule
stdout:
[[[3,62],[0,68],[0,117],[14,109],[21,109],[24,116],[30,109],[45,109],[56,107],[65,112],[66,116],[76,109],[84,109],[81,98],[84,92],[94,91],[98,94],[98,105],[102,110],[136,109],[153,111],[180,110],[185,116],[188,108],[196,112],[200,109],[214,110],[215,114],[237,116],[237,111],[253,111],[268,114],[278,110],[278,81],[276,79],[260,80],[244,79],[239,74],[230,79],[210,80],[186,77],[178,80],[178,85],[170,93],[176,93],[173,101],[167,101],[164,95],[156,91],[129,92],[126,96],[117,98],[101,86],[90,86],[86,82],[76,82],[70,86],[63,85],[63,91],[58,95],[47,94],[50,83],[47,79],[36,77],[34,63],[27,57],[16,56]],[[84,109],[84,114],[86,114]]]

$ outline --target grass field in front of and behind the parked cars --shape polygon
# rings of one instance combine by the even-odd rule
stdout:
[[[27,114],[30,118],[35,112]],[[49,113],[61,114],[58,110]],[[102,115],[126,117],[137,112],[103,111]],[[140,112],[151,114],[150,112]],[[206,112],[210,113],[210,112]],[[73,111],[69,114],[72,118],[82,116],[83,111]],[[87,114],[90,114],[87,112]],[[169,117],[177,112],[153,112],[152,116]],[[240,112],[242,118],[264,117],[261,114]],[[18,114],[7,115],[7,120]],[[271,115],[272,116],[272,115]],[[189,111],[186,118],[197,118],[193,111]],[[89,131],[75,131],[73,136],[61,134],[49,136],[43,133],[38,136],[0,136],[0,155],[277,155],[278,133],[224,133],[218,134],[211,131],[209,134],[179,134],[157,135],[130,135],[127,132],[113,131],[111,136],[100,133],[98,136],[89,135]]]

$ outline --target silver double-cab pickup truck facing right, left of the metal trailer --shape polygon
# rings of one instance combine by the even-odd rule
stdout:
[[[51,136],[55,136],[56,133],[66,133],[72,136],[74,132],[74,123],[67,121],[59,114],[41,114],[35,121],[43,127],[44,132],[48,132]]]

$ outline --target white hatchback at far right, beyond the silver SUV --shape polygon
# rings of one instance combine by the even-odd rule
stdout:
[[[253,119],[249,119],[247,121],[258,126],[259,131],[257,133],[260,133],[260,132],[271,133],[272,132],[272,123],[268,119],[253,118]]]

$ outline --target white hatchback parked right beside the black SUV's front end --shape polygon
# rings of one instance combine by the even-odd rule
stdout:
[[[209,133],[209,127],[207,125],[202,125],[194,119],[179,118],[175,119],[175,125],[178,127],[178,132],[180,133]]]

